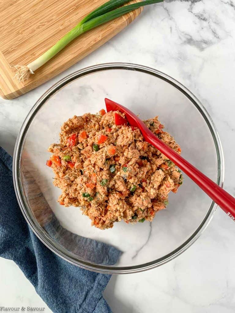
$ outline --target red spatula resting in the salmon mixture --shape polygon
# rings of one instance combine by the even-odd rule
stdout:
[[[212,200],[224,210],[233,220],[235,220],[235,198],[228,192],[219,187],[210,178],[206,177],[196,167],[186,161],[182,156],[177,154],[157,136],[155,136],[149,128],[136,116],[133,112],[112,100],[105,99],[107,112],[120,111],[125,113],[126,119],[130,126],[138,127],[144,137],[144,140],[149,142],[172,162],[175,163],[185,174],[190,177]]]

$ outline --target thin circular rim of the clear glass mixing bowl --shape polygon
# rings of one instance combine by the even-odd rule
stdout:
[[[104,70],[110,70],[110,69],[124,69],[124,70],[133,70],[133,71],[139,71],[146,74],[150,74],[152,76],[158,77],[162,80],[165,80],[167,83],[170,83],[170,85],[173,85],[175,88],[177,88],[181,93],[183,93],[191,102],[193,105],[195,105],[196,109],[199,111],[199,113],[202,115],[204,120],[206,121],[206,124],[210,130],[210,133],[212,135],[215,149],[216,149],[216,156],[217,156],[217,184],[222,187],[224,182],[224,156],[223,156],[223,150],[222,150],[222,144],[217,132],[217,129],[214,125],[214,122],[212,121],[211,116],[205,109],[205,107],[201,104],[201,102],[196,98],[195,95],[191,93],[190,90],[188,90],[184,85],[182,85],[180,82],[172,78],[171,76],[139,64],[132,64],[132,63],[105,63],[105,64],[97,64],[92,65],[80,70],[77,70],[76,72],[73,72],[58,82],[56,82],[54,85],[52,85],[44,94],[36,101],[32,109],[29,111],[28,115],[26,116],[24,123],[19,131],[14,154],[13,154],[13,183],[15,188],[16,197],[19,203],[19,206],[21,208],[21,211],[24,215],[24,218],[26,219],[27,223],[29,224],[32,231],[35,233],[35,235],[55,254],[60,256],[62,259],[65,259],[66,261],[77,265],[83,269],[88,269],[91,271],[104,273],[104,274],[130,274],[130,273],[137,273],[146,271],[149,269],[153,269],[155,267],[158,267],[162,264],[165,264],[169,262],[170,260],[174,259],[181,253],[183,253],[186,249],[188,249],[195,241],[199,238],[199,236],[203,233],[203,231],[206,229],[210,221],[212,220],[212,217],[216,211],[217,204],[213,201],[210,204],[210,207],[206,213],[206,216],[202,220],[201,224],[197,227],[197,229],[194,231],[194,233],[191,234],[191,236],[179,247],[174,249],[172,252],[164,255],[163,257],[156,259],[154,261],[144,263],[141,265],[135,265],[135,266],[121,266],[121,267],[115,267],[115,266],[105,266],[105,265],[98,265],[98,264],[92,264],[83,260],[77,260],[75,257],[72,257],[66,252],[62,252],[61,248],[59,249],[59,246],[56,246],[56,244],[46,236],[46,234],[39,228],[39,224],[30,217],[28,210],[30,211],[30,208],[27,210],[27,204],[24,201],[23,196],[23,190],[20,183],[20,160],[21,160],[21,152],[24,144],[24,140],[26,138],[26,133],[29,128],[29,125],[31,121],[34,119],[35,115],[37,114],[38,110],[44,105],[44,103],[52,97],[57,91],[59,91],[61,88],[63,88],[65,85],[69,84],[73,80],[79,79],[83,76],[86,76],[88,74],[92,74],[95,72],[100,72]]]

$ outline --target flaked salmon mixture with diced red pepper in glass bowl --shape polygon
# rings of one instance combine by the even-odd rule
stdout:
[[[158,116],[145,125],[180,154],[180,146],[163,131]],[[118,124],[118,125],[117,125]],[[62,190],[61,205],[80,207],[100,229],[152,221],[166,208],[170,191],[177,192],[182,174],[165,155],[144,141],[116,111],[74,116],[61,127],[60,144],[50,145],[47,165]]]

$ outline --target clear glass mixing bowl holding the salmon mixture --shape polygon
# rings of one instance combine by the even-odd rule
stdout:
[[[47,148],[59,141],[60,126],[73,115],[96,113],[110,98],[148,119],[159,115],[182,156],[218,185],[223,153],[215,126],[202,104],[170,76],[141,65],[91,66],[60,80],[36,102],[17,138],[13,177],[21,210],[38,238],[54,253],[82,268],[109,274],[151,269],[185,251],[203,232],[216,204],[188,177],[153,222],[91,227],[76,207],[57,203],[60,189],[45,166]]]

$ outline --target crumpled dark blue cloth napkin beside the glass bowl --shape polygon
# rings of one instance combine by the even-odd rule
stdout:
[[[78,237],[79,242],[81,237]],[[93,240],[93,247],[95,243]],[[99,249],[102,248],[102,243],[97,245]],[[106,251],[109,246],[103,245]],[[120,253],[118,250],[116,253],[112,251],[112,263],[114,259],[117,261]],[[1,147],[0,256],[13,260],[19,266],[53,312],[112,312],[102,296],[110,275],[94,273],[68,263],[50,251],[34,235],[21,213],[15,196],[12,157]]]

